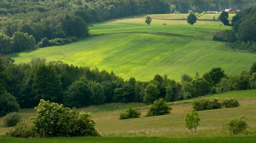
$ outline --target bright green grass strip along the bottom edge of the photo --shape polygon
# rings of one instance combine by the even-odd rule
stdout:
[[[1,143],[255,143],[256,136],[233,137],[57,137],[57,138],[6,138]]]

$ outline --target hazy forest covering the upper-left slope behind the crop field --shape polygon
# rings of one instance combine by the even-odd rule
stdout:
[[[168,12],[166,0],[2,0],[0,53],[77,41],[89,35],[92,22]]]

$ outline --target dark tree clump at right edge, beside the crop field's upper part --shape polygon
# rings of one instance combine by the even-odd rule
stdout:
[[[213,40],[230,42],[226,47],[247,52],[256,52],[256,6],[246,8],[233,16],[232,29],[216,33]]]

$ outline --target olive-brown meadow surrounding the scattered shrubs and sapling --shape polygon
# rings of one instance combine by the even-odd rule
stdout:
[[[184,117],[191,109],[191,100],[169,103],[173,108],[172,114],[154,117],[144,117],[149,105],[145,103],[111,103],[100,106],[79,108],[78,111],[91,112],[92,118],[97,121],[96,128],[107,137],[217,137],[230,136],[225,125],[230,119],[249,115],[247,123],[252,134],[256,134],[256,90],[227,92],[215,94],[218,98],[238,98],[241,107],[200,111],[201,118],[197,135],[188,131],[184,126]],[[209,95],[203,98],[214,97]],[[135,107],[141,112],[141,118],[118,120],[120,113],[128,107]],[[31,122],[29,118],[34,116],[34,109],[22,109],[22,118]],[[0,125],[2,118],[0,118]],[[8,128],[0,128],[0,135],[5,134]]]

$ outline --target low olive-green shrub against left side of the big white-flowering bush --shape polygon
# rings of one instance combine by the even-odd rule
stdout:
[[[17,123],[5,135],[9,137],[35,137],[31,127],[24,121]]]

